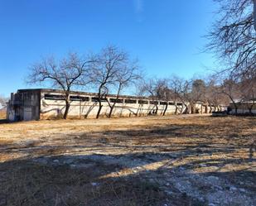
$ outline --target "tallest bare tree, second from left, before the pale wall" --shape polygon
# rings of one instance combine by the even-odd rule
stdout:
[[[128,66],[128,55],[116,46],[107,46],[95,59],[92,65],[92,82],[98,90],[99,109],[96,118],[99,118],[103,101],[107,101],[109,90],[117,83],[118,72]],[[124,83],[120,91],[123,85]]]

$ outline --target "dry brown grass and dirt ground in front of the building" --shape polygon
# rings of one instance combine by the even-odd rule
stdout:
[[[256,205],[256,118],[0,124],[0,205]]]

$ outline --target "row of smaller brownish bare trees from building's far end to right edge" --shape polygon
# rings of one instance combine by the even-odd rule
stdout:
[[[214,74],[207,79],[182,79],[172,76],[168,79],[147,79],[142,85],[142,91],[153,99],[181,102],[185,113],[196,113],[196,103],[205,104],[205,112],[210,108],[210,113],[218,111],[219,105],[229,106],[232,103],[237,114],[238,108],[243,103],[244,108],[253,114],[256,105],[256,81],[252,78],[221,79],[220,74]],[[157,105],[156,105],[157,107]],[[168,104],[166,104],[165,112]],[[179,107],[176,106],[176,113]],[[183,111],[183,108],[181,109]]]

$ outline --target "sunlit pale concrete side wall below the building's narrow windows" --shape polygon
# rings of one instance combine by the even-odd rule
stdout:
[[[62,117],[63,113],[65,112],[65,101],[55,100],[55,99],[46,99],[44,98],[45,94],[61,95],[61,93],[41,93],[41,119]],[[80,95],[80,96],[89,97],[89,102],[71,101],[69,117],[78,117],[78,118],[96,117],[99,109],[99,103],[91,101],[91,99],[94,98],[95,96],[94,95],[92,96]],[[122,99],[123,99],[123,103],[115,104],[114,111],[112,113],[113,117],[147,116],[149,114],[156,113],[156,110],[157,110],[157,114],[161,115],[166,107],[166,105],[160,104],[160,101],[156,106],[154,104],[150,104],[150,101],[148,99],[143,99],[143,101],[147,101],[148,104],[138,103],[137,98],[122,98]],[[136,103],[125,103],[125,99],[136,100]],[[142,99],[139,99],[139,100],[142,100]],[[181,109],[182,106],[179,106],[179,108]],[[181,112],[184,112],[184,109]],[[107,117],[109,115],[109,111],[110,111],[109,104],[107,102],[104,102],[103,108],[100,113],[100,117]],[[171,114],[175,112],[176,112],[176,106],[168,105],[166,114]]]

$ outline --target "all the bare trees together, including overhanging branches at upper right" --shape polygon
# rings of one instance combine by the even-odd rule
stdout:
[[[154,99],[179,101],[186,107],[186,113],[195,112],[195,104],[200,101],[206,105],[234,104],[235,111],[241,102],[248,103],[252,112],[255,101],[256,82],[256,1],[215,0],[220,5],[217,20],[209,35],[207,50],[219,54],[220,65],[215,78],[182,79],[173,76],[169,79],[143,79],[138,61],[131,60],[128,53],[115,46],[101,50],[99,54],[82,58],[70,54],[59,63],[48,58],[31,67],[29,82],[34,84],[51,81],[54,87],[65,93],[65,114],[70,108],[70,89],[75,87],[94,88],[98,93],[99,111],[102,101],[111,93],[118,98],[123,89],[131,84],[140,88],[138,94]],[[216,82],[216,79],[218,82]],[[109,103],[113,113],[115,103]],[[157,108],[157,104],[155,105]],[[168,104],[163,115],[167,111]],[[189,108],[190,107],[190,108]],[[179,108],[176,108],[176,113]],[[157,109],[156,109],[157,111]]]

